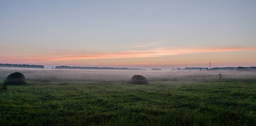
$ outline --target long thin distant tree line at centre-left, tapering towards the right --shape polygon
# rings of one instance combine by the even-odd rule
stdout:
[[[114,68],[114,67],[88,67],[88,66],[56,66],[56,69],[115,69],[115,70],[141,70],[141,68]]]

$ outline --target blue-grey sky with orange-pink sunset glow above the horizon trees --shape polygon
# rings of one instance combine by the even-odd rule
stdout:
[[[0,63],[256,66],[256,1],[0,0]]]

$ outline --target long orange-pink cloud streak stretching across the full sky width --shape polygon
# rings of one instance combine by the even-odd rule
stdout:
[[[39,55],[39,56],[24,56],[16,58],[15,56],[7,57],[0,56],[1,59],[15,59],[26,61],[64,61],[64,60],[88,60],[88,59],[106,59],[106,58],[150,58],[162,57],[167,55],[181,55],[199,52],[230,52],[230,51],[256,51],[256,47],[209,47],[209,48],[157,48],[151,50],[127,50],[123,52],[97,52],[84,54],[63,54],[57,55]]]

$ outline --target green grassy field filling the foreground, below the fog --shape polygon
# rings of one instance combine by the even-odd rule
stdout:
[[[28,82],[0,90],[0,125],[256,125],[255,79]]]

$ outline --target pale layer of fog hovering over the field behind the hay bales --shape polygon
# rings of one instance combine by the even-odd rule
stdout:
[[[256,71],[128,71],[128,70],[50,70],[0,68],[0,79],[13,72],[21,72],[26,79],[42,81],[127,82],[134,75],[153,81],[207,81],[219,79],[256,79]]]

